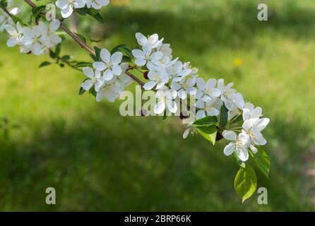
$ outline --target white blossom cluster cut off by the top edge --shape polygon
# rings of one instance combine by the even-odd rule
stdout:
[[[107,6],[109,0],[57,0],[56,6],[61,9],[61,16],[69,18],[74,11],[74,8],[95,8],[99,10],[102,6]]]

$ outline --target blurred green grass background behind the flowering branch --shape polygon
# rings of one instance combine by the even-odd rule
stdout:
[[[157,32],[204,78],[232,81],[263,107],[271,175],[257,174],[268,205],[258,205],[257,194],[244,204],[237,197],[238,167],[224,143],[183,140],[176,118],[121,117],[119,102],[78,95],[83,73],[39,69],[49,57],[8,49],[1,34],[0,210],[315,210],[315,2],[112,1],[104,24],[77,20],[83,35],[104,40],[99,47],[136,46],[136,32]],[[30,12],[16,2],[22,16]],[[260,3],[269,6],[267,22],[256,19]],[[62,54],[89,59],[69,39]],[[55,206],[45,203],[49,186]]]

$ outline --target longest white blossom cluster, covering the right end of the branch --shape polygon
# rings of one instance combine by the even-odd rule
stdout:
[[[165,109],[175,113],[178,110],[176,98],[183,101],[194,96],[196,119],[219,117],[222,106],[227,109],[227,125],[232,131],[222,128],[223,137],[229,141],[224,150],[225,155],[235,152],[245,162],[249,159],[249,148],[256,153],[257,145],[266,144],[261,131],[268,125],[269,119],[260,119],[261,107],[254,108],[254,105],[245,103],[242,94],[232,88],[233,83],[225,85],[222,78],[218,81],[215,78],[204,81],[198,76],[198,69],[193,68],[189,62],[173,59],[170,44],[163,44],[164,39],[159,39],[157,34],[145,37],[137,33],[136,39],[141,49],[133,49],[132,54],[136,59],[135,64],[148,70],[149,81],[143,88],[156,91],[156,114],[161,114]],[[242,131],[232,126],[233,120],[240,115],[244,121]],[[192,126],[189,125],[188,131],[184,133],[185,138],[191,129]]]

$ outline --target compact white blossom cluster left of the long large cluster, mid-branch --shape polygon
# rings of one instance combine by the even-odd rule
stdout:
[[[122,57],[121,52],[111,54],[107,49],[102,49],[100,51],[102,61],[94,62],[93,68],[90,66],[83,68],[83,73],[88,78],[81,87],[84,90],[95,90],[97,102],[103,98],[114,102],[125,87],[132,82],[126,75],[129,64],[121,63]]]

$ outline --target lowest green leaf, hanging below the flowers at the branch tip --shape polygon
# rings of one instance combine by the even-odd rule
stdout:
[[[234,179],[234,189],[242,198],[242,203],[250,198],[256,191],[257,177],[254,169],[246,163],[245,168],[241,167]]]

